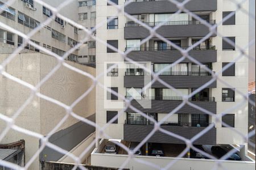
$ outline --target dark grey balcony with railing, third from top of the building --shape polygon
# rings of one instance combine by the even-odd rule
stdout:
[[[182,49],[187,49],[188,46],[181,46]],[[154,47],[138,47],[138,48],[126,48],[126,50],[132,50],[127,57],[134,61],[143,62],[159,62],[171,63],[180,59],[183,55],[179,50],[168,46],[166,48],[154,48]],[[190,50],[189,55],[195,58],[199,62],[216,62],[217,50],[213,45],[210,46],[196,46]],[[188,58],[184,59],[184,62],[190,62]]]

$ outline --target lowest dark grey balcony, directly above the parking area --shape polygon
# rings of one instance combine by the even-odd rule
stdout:
[[[181,137],[191,139],[196,134],[200,133],[205,127],[192,127],[187,124],[182,126],[179,122],[168,122],[163,124],[162,129],[180,135]],[[131,142],[141,142],[154,129],[154,125],[123,125],[123,140]],[[147,142],[156,143],[184,143],[180,139],[171,137],[160,131],[156,131],[154,135]],[[195,145],[216,145],[216,128],[210,129],[207,133],[202,135],[199,139],[193,142]]]

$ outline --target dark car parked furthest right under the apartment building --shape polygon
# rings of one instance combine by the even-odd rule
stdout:
[[[222,156],[228,154],[228,152],[229,152],[228,148],[221,147],[221,146],[212,146],[211,150],[212,150],[212,154],[217,156],[217,158],[219,158],[219,159]],[[242,159],[237,153],[234,153],[234,154],[230,155],[229,158],[226,160],[242,160]]]

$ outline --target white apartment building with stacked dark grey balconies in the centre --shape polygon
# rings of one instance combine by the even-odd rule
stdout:
[[[125,6],[124,0],[113,0],[116,5],[107,4],[105,1],[97,1],[96,23],[105,24],[97,29],[97,37],[108,44],[114,46],[122,52],[127,52],[127,58],[141,63],[148,70],[158,73],[161,69],[170,66],[171,63],[180,59],[183,54],[160,40],[156,36],[151,36],[146,42],[141,42],[150,36],[150,31],[141,24],[127,18],[123,13],[118,13],[117,6],[121,7],[127,14],[138,19],[144,24],[155,27],[163,24],[157,29],[157,33],[167,40],[170,40],[180,48],[187,49],[209,34],[209,28],[202,22],[193,18],[187,13],[177,11],[176,5],[170,1],[132,1]],[[249,2],[241,4],[242,8],[248,10]],[[246,95],[248,83],[248,60],[241,57],[236,62],[233,60],[240,54],[236,46],[229,45],[224,41],[224,37],[233,41],[238,46],[245,46],[249,39],[249,17],[240,10],[236,4],[228,0],[194,0],[188,2],[185,7],[200,16],[211,25],[221,23],[222,19],[234,12],[231,18],[218,24],[217,31],[222,36],[211,34],[208,39],[195,46],[189,54],[202,65],[197,65],[188,58],[183,59],[171,68],[166,68],[159,78],[170,84],[178,91],[174,91],[155,82],[150,88],[142,91],[144,75],[148,74],[141,66],[127,62],[120,53],[107,48],[106,45],[96,42],[96,75],[100,75],[113,64],[114,67],[109,74],[100,81],[106,87],[111,88],[118,94],[131,99],[133,91],[141,92],[141,97],[131,101],[131,105],[139,111],[154,118],[155,121],[162,121],[168,113],[172,112],[183,101],[183,95],[189,95],[197,88],[212,79],[212,75],[205,71],[202,66],[208,67],[214,73],[221,71],[228,64],[231,66],[220,74],[220,79],[232,84],[235,88],[230,88],[220,80],[215,80],[208,84],[203,90],[198,91],[188,100],[191,103],[213,113],[224,114],[221,121],[216,121],[209,114],[195,109],[189,105],[184,105],[175,114],[165,118],[162,128],[171,131],[181,137],[191,139],[199,134],[207,126],[213,124],[213,128],[202,135],[193,144],[195,145],[241,145],[245,146],[243,154],[246,154],[247,143],[243,141],[239,131],[247,135],[247,115],[246,102],[239,108],[226,111],[244,100],[241,91]],[[107,22],[109,17],[114,19]],[[247,49],[245,50],[247,53]],[[144,108],[141,101],[151,101],[151,108]],[[111,105],[111,106],[110,106]],[[114,107],[113,107],[114,106]],[[106,124],[125,108],[125,103],[120,96],[109,95],[109,92],[102,87],[96,90],[96,122],[100,126]],[[225,122],[232,128],[222,125]],[[148,120],[137,113],[131,107],[125,110],[118,119],[106,126],[104,133],[113,139],[122,139],[129,142],[141,142],[154,129],[154,122]],[[232,130],[235,129],[236,131]],[[100,135],[96,130],[96,134]],[[108,138],[101,135],[100,138]],[[160,131],[156,131],[146,143],[184,143],[180,139],[171,137]]]

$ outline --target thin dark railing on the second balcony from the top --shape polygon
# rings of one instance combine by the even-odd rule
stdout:
[[[216,24],[216,20],[208,20],[209,24]],[[180,20],[180,21],[170,21],[170,22],[143,22],[144,24],[154,27],[157,25],[201,25],[203,22],[199,20]],[[141,24],[135,22],[125,23],[125,27],[141,27]]]

